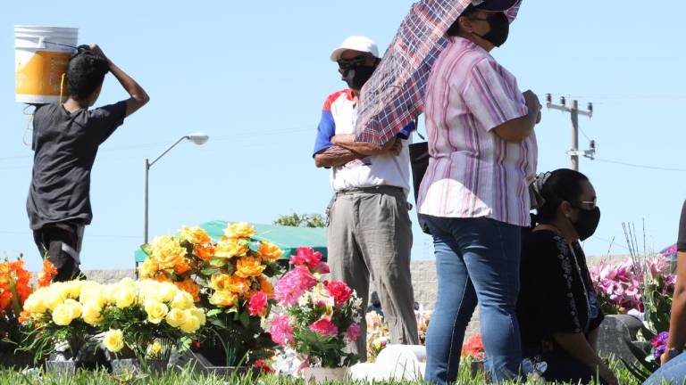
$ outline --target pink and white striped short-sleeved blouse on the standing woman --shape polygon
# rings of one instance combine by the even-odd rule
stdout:
[[[527,111],[511,73],[479,45],[452,37],[426,89],[431,160],[419,212],[530,225],[528,186],[536,172],[536,135],[507,143],[493,132]]]

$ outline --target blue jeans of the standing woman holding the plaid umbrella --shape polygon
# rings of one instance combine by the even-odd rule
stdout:
[[[464,331],[477,304],[491,379],[518,378],[522,346],[515,304],[522,228],[489,218],[426,220],[433,235],[439,293],[426,336],[424,380],[441,385],[456,381]]]

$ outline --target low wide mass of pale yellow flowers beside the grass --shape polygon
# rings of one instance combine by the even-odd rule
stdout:
[[[205,324],[205,312],[192,296],[171,283],[151,280],[101,285],[90,281],[52,283],[24,302],[29,328],[24,349],[38,360],[66,342],[76,357],[90,336],[105,332],[105,348],[139,358],[155,341],[176,346]]]

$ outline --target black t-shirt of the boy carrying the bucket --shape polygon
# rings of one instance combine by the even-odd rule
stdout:
[[[70,220],[90,223],[90,170],[97,148],[125,116],[126,102],[73,113],[57,103],[38,107],[33,120],[33,178],[26,202],[32,230]]]

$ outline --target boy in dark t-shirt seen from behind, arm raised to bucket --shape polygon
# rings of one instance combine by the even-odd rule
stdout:
[[[130,98],[88,110],[95,104],[107,72]],[[89,225],[90,172],[100,144],[124,118],[150,100],[146,91],[107,59],[97,46],[80,48],[69,61],[64,103],[41,104],[33,121],[33,177],[26,210],[42,256],[57,268],[54,281],[77,278],[83,230]]]

